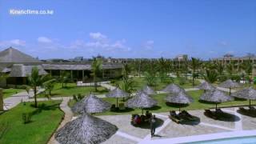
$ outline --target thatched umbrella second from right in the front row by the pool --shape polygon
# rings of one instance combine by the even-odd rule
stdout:
[[[232,101],[233,98],[231,98],[229,95],[224,94],[221,90],[214,89],[206,91],[206,93],[202,94],[200,100],[206,102],[214,102],[216,105],[215,109],[217,110],[218,103],[229,102]]]

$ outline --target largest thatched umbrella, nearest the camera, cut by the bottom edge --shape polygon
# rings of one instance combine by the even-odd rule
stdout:
[[[65,126],[57,130],[54,135],[59,143],[101,143],[110,138],[118,130],[110,122],[100,118],[83,114],[81,117],[67,122]]]

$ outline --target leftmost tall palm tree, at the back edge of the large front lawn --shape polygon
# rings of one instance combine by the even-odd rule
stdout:
[[[34,91],[34,106],[38,107],[37,102],[37,87],[42,86],[43,82],[46,82],[46,75],[40,75],[37,66],[32,68],[31,74],[28,75],[28,82],[31,89]]]

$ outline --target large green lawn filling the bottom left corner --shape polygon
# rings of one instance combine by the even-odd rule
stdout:
[[[0,143],[46,143],[64,117],[64,113],[59,109],[60,102],[39,102],[37,109],[30,106],[30,102],[25,106],[20,103],[14,109],[0,114]],[[32,122],[23,123],[22,113],[24,112],[34,112]]]

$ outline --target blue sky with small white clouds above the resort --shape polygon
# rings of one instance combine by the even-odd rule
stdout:
[[[40,59],[256,54],[256,1],[0,0],[0,50],[10,46]]]

